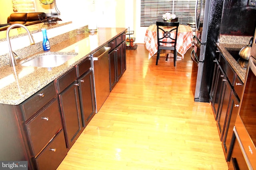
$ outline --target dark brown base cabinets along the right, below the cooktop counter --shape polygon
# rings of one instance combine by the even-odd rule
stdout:
[[[215,61],[210,96],[222,148],[228,161],[243,83],[221,53]]]

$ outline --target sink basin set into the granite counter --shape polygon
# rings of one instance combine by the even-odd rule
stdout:
[[[70,60],[76,55],[63,55],[63,54],[46,54],[38,56],[30,61],[27,61],[22,66],[34,66],[34,67],[56,67]]]

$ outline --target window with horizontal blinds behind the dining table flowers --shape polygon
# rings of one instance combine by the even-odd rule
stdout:
[[[148,27],[163,21],[166,12],[174,13],[180,24],[195,22],[196,0],[141,0],[140,26]],[[195,26],[193,25],[193,29]]]

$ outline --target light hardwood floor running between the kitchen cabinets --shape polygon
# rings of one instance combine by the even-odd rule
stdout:
[[[228,170],[211,105],[194,102],[190,51],[172,60],[127,50],[126,72],[58,170]]]

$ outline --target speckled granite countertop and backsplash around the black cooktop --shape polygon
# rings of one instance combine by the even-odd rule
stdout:
[[[230,66],[234,69],[238,77],[241,79],[241,81],[244,83],[245,75],[246,75],[246,69],[242,68],[238,62],[230,55],[228,50],[234,50],[234,51],[240,51],[246,44],[228,44],[228,43],[216,43],[218,49],[223,54],[225,59],[228,61]],[[227,50],[228,49],[228,50]]]

